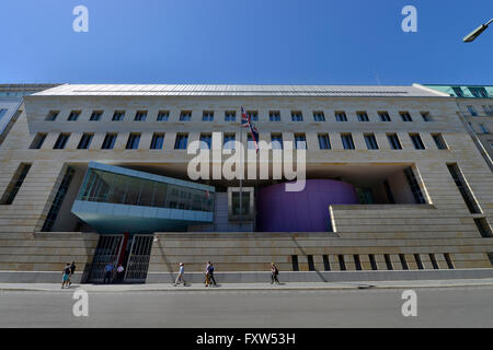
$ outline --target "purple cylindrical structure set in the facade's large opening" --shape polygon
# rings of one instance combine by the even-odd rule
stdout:
[[[260,232],[324,232],[330,205],[357,205],[353,185],[333,179],[307,179],[302,191],[288,192],[285,184],[264,187],[256,199]]]

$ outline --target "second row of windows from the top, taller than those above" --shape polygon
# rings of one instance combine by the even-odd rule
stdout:
[[[43,143],[47,137],[47,133],[38,132],[33,142],[31,143],[31,149],[41,149],[43,147]],[[64,149],[68,142],[68,139],[70,137],[70,133],[60,133],[58,136],[58,139],[55,142],[54,149],[60,150]],[[89,149],[91,145],[91,141],[94,137],[94,133],[83,133],[79,144],[78,149]],[[115,145],[117,133],[108,132],[104,137],[103,144],[101,149],[103,150],[111,150]],[[319,147],[321,150],[330,150],[332,148],[331,145],[331,139],[329,137],[329,133],[322,132],[317,135],[319,140]],[[413,143],[414,148],[416,150],[424,150],[425,145],[423,143],[423,140],[421,139],[421,136],[419,133],[409,133],[409,137],[411,139],[411,142]],[[377,142],[377,138],[375,137],[375,133],[366,132],[364,133],[365,142],[368,148],[368,150],[378,150],[379,145]],[[446,150],[447,144],[444,140],[444,137],[440,133],[432,133],[432,138],[436,143],[437,149],[439,150]],[[399,140],[399,137],[397,133],[387,133],[387,139],[389,141],[390,148],[393,150],[401,150],[402,145]],[[203,147],[207,145],[207,148],[210,149],[210,144],[213,141],[213,135],[210,132],[203,132],[200,133],[200,141],[203,141]],[[234,143],[231,141],[236,140],[234,133],[225,133],[223,136],[223,145],[228,149],[233,149]],[[136,150],[139,147],[140,141],[140,133],[138,132],[131,132],[128,136],[128,140],[126,143],[127,150]],[[283,149],[283,133],[280,132],[273,132],[271,133],[271,141],[272,141],[272,148],[273,149]],[[354,150],[355,143],[353,140],[353,135],[351,132],[342,132],[341,133],[341,141],[345,150]],[[248,148],[252,149],[254,148],[252,136],[248,136]],[[157,150],[162,149],[164,143],[164,132],[154,132],[152,135],[152,140],[150,143],[150,149]],[[176,133],[176,139],[174,142],[174,149],[176,150],[184,150],[186,149],[188,143],[188,133],[186,132],[179,132]],[[306,149],[307,148],[307,137],[305,133],[296,133],[295,132],[295,148],[296,149]]]

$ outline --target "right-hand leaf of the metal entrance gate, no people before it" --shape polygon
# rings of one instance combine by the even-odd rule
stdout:
[[[135,234],[128,254],[125,269],[125,282],[145,283],[149,269],[150,253],[152,249],[152,234]]]

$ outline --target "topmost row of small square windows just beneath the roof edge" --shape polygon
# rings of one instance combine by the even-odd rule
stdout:
[[[46,116],[45,120],[54,121],[57,119],[59,115],[59,110],[50,110]],[[76,121],[79,119],[81,115],[81,110],[71,110],[67,120]],[[259,112],[256,110],[248,110],[246,112],[253,121],[259,121]],[[432,117],[429,112],[421,112],[420,113],[424,121],[432,121]],[[147,110],[137,110],[134,117],[135,121],[145,121],[147,119],[148,112]],[[400,112],[399,113],[401,119],[403,121],[413,121],[411,114],[409,112]],[[103,110],[93,110],[90,121],[99,121],[103,116]],[[356,116],[358,121],[370,121],[367,112],[360,110],[356,112]],[[202,115],[203,121],[214,121],[214,110],[204,110]],[[391,121],[390,115],[388,112],[378,112],[378,117],[380,121]],[[112,117],[113,121],[121,121],[125,118],[125,110],[115,110]],[[158,113],[157,121],[167,121],[170,118],[169,110],[160,110]],[[344,110],[336,110],[334,113],[334,118],[336,121],[347,121],[347,115]],[[192,120],[192,110],[182,110],[180,113],[180,121],[191,121]],[[234,110],[225,112],[225,121],[236,121],[237,113]],[[270,121],[280,121],[280,112],[271,110],[268,113]],[[325,115],[323,112],[314,110],[313,112],[313,120],[314,121],[325,121]],[[291,110],[291,121],[303,121],[303,114],[299,110]]]

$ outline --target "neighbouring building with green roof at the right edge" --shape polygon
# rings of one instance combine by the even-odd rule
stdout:
[[[458,115],[493,171],[493,86],[424,85],[456,98]]]

